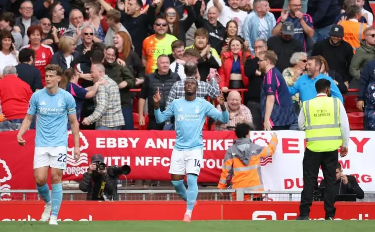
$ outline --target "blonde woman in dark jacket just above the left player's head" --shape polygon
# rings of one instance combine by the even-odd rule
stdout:
[[[75,51],[75,39],[70,36],[63,36],[59,40],[59,51],[53,54],[51,64],[59,65],[63,71],[71,67],[71,62],[78,57]]]

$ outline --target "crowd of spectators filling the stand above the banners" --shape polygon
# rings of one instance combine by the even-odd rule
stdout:
[[[63,69],[60,87],[74,96],[81,129],[173,130],[174,120],[156,123],[152,96],[159,88],[165,110],[187,78],[213,104],[225,93],[229,123],[207,119],[206,130],[298,130],[301,102],[321,78],[342,102],[358,85],[352,112],[374,110],[367,0],[9,0],[0,8],[0,131],[20,126],[48,64]]]

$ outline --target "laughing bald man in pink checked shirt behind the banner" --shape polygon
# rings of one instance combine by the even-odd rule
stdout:
[[[229,122],[221,123],[216,121],[215,130],[225,131],[228,130],[227,126],[235,127],[238,123],[247,123],[253,126],[253,117],[249,108],[241,103],[241,94],[238,91],[230,91],[226,100],[225,108],[229,113]],[[221,111],[219,105],[217,109]]]

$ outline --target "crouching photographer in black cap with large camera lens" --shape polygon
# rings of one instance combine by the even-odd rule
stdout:
[[[107,167],[101,154],[93,155],[91,164],[79,183],[79,190],[87,193],[88,201],[115,201],[118,177],[129,173],[129,166]]]

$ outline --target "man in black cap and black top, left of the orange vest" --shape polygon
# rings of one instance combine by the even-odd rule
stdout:
[[[353,48],[348,42],[342,40],[344,29],[334,25],[330,37],[317,42],[312,49],[311,56],[322,56],[327,60],[328,66],[336,70],[343,78],[346,87],[353,79],[349,74],[349,67],[353,58]]]

